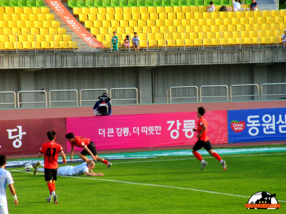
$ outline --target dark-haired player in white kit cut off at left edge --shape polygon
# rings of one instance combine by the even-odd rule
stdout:
[[[8,184],[9,190],[14,197],[15,206],[18,205],[18,199],[14,188],[14,181],[11,176],[11,173],[5,170],[6,165],[6,156],[0,155],[0,213],[8,214],[8,205],[6,197],[6,185]]]

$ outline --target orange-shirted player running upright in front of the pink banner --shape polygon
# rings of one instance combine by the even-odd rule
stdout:
[[[193,147],[193,154],[195,155],[195,157],[201,161],[202,163],[202,167],[201,170],[203,170],[205,168],[205,165],[208,164],[207,161],[205,161],[202,156],[200,155],[200,153],[198,153],[197,151],[200,150],[202,147],[205,148],[205,150],[208,151],[208,153],[215,157],[218,161],[221,162],[221,165],[223,167],[224,170],[226,170],[226,163],[224,160],[221,159],[221,157],[219,156],[218,153],[213,151],[213,146],[211,145],[211,141],[209,140],[208,136],[207,136],[207,130],[208,130],[208,123],[205,120],[205,118],[203,117],[203,115],[205,114],[205,109],[204,107],[198,107],[198,111],[197,111],[197,117],[199,118],[198,122],[197,122],[197,128],[193,129],[193,131],[197,131],[197,138],[198,141],[197,143],[194,145]]]

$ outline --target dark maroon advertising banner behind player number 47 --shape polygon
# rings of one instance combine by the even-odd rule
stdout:
[[[57,133],[55,142],[66,151],[65,118],[0,120],[0,154],[38,154],[49,130]]]

